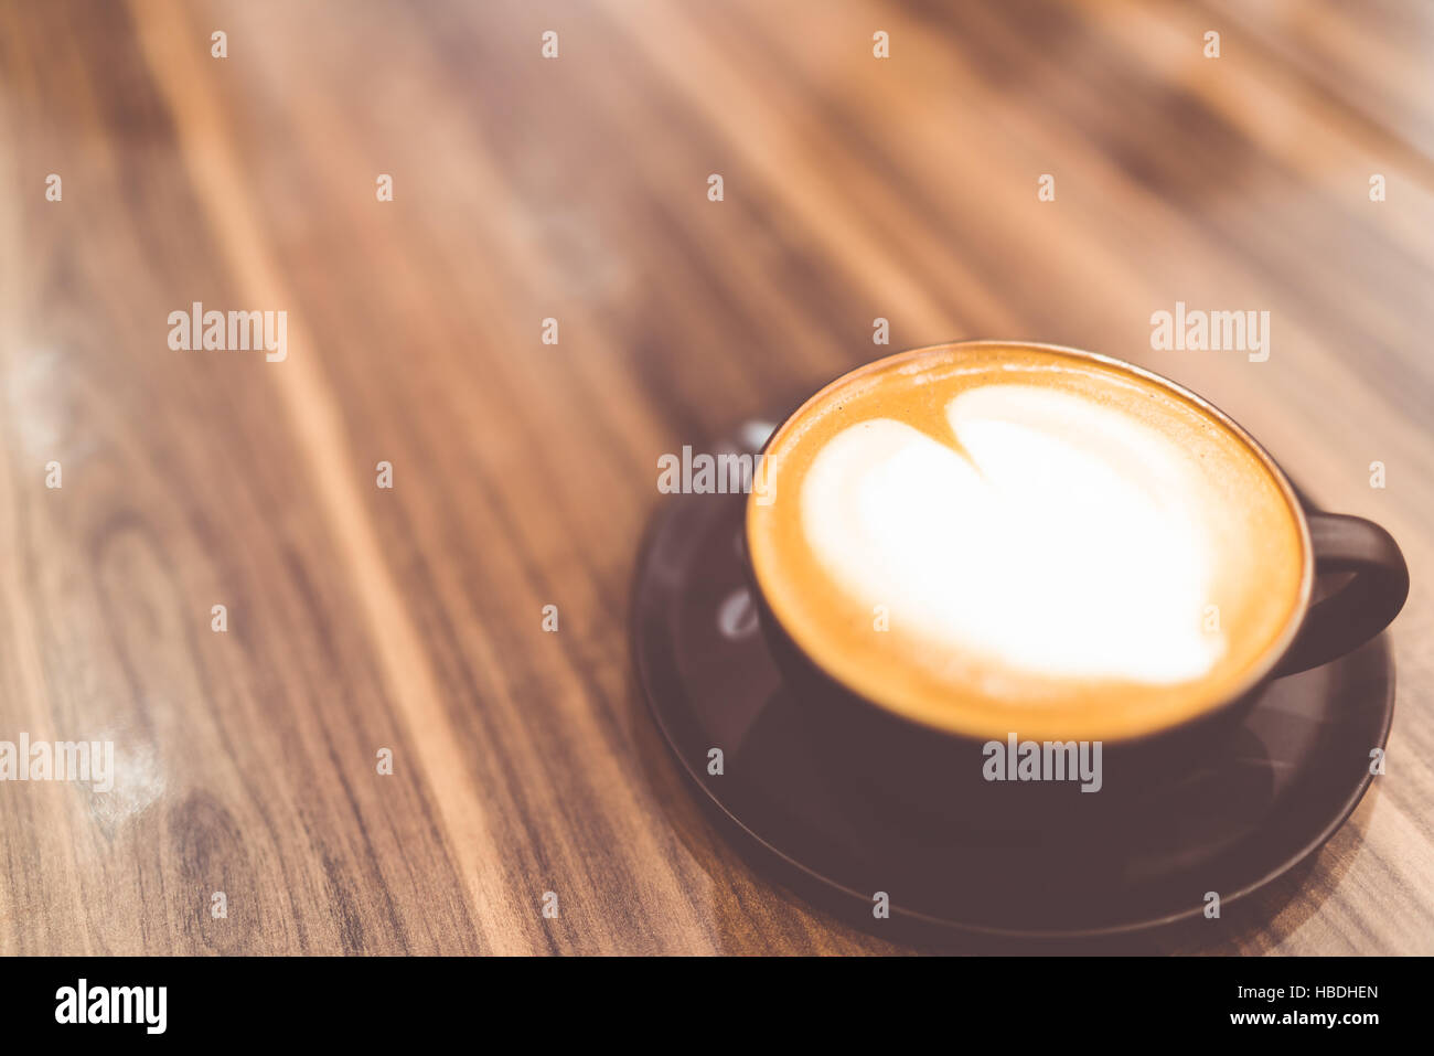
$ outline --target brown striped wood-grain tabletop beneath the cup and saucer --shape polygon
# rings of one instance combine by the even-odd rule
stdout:
[[[630,575],[661,453],[1002,336],[1190,385],[1414,574],[1387,776],[1133,948],[1434,953],[1431,56],[1397,0],[6,4],[0,739],[116,776],[0,783],[0,951],[899,948],[695,808]],[[287,357],[171,350],[194,301]],[[1176,301],[1268,362],[1153,350]]]

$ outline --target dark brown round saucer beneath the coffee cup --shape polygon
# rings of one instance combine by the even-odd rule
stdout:
[[[770,429],[749,422],[713,451],[753,452]],[[741,568],[744,504],[665,496],[632,590],[638,679],[698,802],[749,862],[858,927],[1094,938],[1197,918],[1207,892],[1223,910],[1319,849],[1372,781],[1394,716],[1382,636],[1271,683],[1217,755],[1136,812],[1044,831],[873,816],[819,768],[767,653]],[[889,920],[873,917],[878,892]]]

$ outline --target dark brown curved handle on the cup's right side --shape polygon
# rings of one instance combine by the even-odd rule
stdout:
[[[1305,613],[1275,676],[1295,674],[1362,646],[1390,626],[1410,593],[1404,554],[1384,528],[1362,517],[1309,514],[1315,575],[1354,572],[1335,594]]]

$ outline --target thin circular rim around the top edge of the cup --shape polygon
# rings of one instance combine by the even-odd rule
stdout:
[[[1258,686],[1260,686],[1273,673],[1281,659],[1285,656],[1285,653],[1289,651],[1289,647],[1295,643],[1295,638],[1299,636],[1299,630],[1305,621],[1305,614],[1309,611],[1309,600],[1311,595],[1314,594],[1314,583],[1315,583],[1315,554],[1314,554],[1314,541],[1309,534],[1309,518],[1305,514],[1305,508],[1301,504],[1299,496],[1295,494],[1295,486],[1285,475],[1285,471],[1279,466],[1275,458],[1268,451],[1265,451],[1265,448],[1259,443],[1259,440],[1256,440],[1243,426],[1240,426],[1239,422],[1226,415],[1223,410],[1210,403],[1207,399],[1205,399],[1199,393],[1192,392],[1179,382],[1166,377],[1164,374],[1159,374],[1154,370],[1147,370],[1146,367],[1141,367],[1136,363],[1130,363],[1123,359],[1117,359],[1114,356],[1106,356],[1097,352],[1088,352],[1086,349],[1076,349],[1068,344],[1051,344],[1047,341],[972,337],[961,341],[942,341],[938,344],[923,344],[919,349],[906,349],[903,352],[893,352],[889,356],[880,356],[875,360],[870,360],[869,363],[863,363],[829,380],[826,385],[823,385],[820,389],[812,393],[807,399],[804,399],[796,409],[789,412],[786,418],[782,419],[777,428],[773,429],[771,433],[767,436],[766,443],[761,445],[761,451],[757,453],[759,459],[766,459],[767,452],[786,433],[786,430],[789,428],[793,428],[793,425],[806,413],[809,407],[819,405],[837,386],[846,385],[855,379],[862,377],[863,374],[891,369],[893,364],[898,364],[901,362],[918,360],[935,354],[945,354],[952,352],[975,350],[975,349],[1012,349],[1017,352],[1030,350],[1030,352],[1054,353],[1057,356],[1064,356],[1078,362],[1098,363],[1117,373],[1131,374],[1140,380],[1149,382],[1150,385],[1154,385],[1192,403],[1200,413],[1206,415],[1219,425],[1225,426],[1225,429],[1233,433],[1235,438],[1239,439],[1239,442],[1245,445],[1245,448],[1250,453],[1253,453],[1256,461],[1259,461],[1259,463],[1265,468],[1271,479],[1275,482],[1275,486],[1279,489],[1281,496],[1285,499],[1286,506],[1293,514],[1295,528],[1299,535],[1299,545],[1301,545],[1299,593],[1295,597],[1293,605],[1291,605],[1291,616],[1285,621],[1285,626],[1281,628],[1281,633],[1271,641],[1265,653],[1259,657],[1259,661],[1250,664],[1245,676],[1235,684],[1235,687],[1230,692],[1228,692],[1220,699],[1212,700],[1207,706],[1190,715],[1184,715],[1173,723],[1167,723],[1164,726],[1154,726],[1147,730],[1141,730],[1131,735],[1103,737],[1103,740],[1110,743],[1136,743],[1140,740],[1146,740],[1149,737],[1160,736],[1163,733],[1169,733],[1170,730],[1176,730],[1189,726],[1192,723],[1209,719],[1210,716],[1245,699],[1250,692],[1253,692]],[[753,494],[747,496],[747,506],[743,514],[743,528],[741,528],[743,545],[744,550],[747,551],[746,564],[749,570],[749,578],[751,580],[753,588],[761,595],[763,601],[761,607],[771,614],[771,618],[776,620],[777,624],[780,626],[783,636],[792,640],[793,646],[796,646],[796,649],[807,659],[809,663],[815,664],[823,673],[823,676],[833,680],[853,697],[862,700],[865,704],[870,707],[875,707],[883,716],[888,716],[891,719],[896,719],[908,725],[919,726],[926,730],[935,730],[938,733],[956,737],[981,740],[991,733],[991,730],[985,727],[978,729],[975,726],[962,726],[958,723],[939,725],[928,722],[925,717],[906,715],[891,704],[876,700],[865,690],[853,686],[846,679],[833,671],[827,664],[822,663],[817,657],[815,657],[809,649],[797,643],[796,638],[792,636],[790,628],[777,616],[777,610],[770,601],[770,594],[763,587],[761,577],[757,572],[756,564],[751,560],[751,527],[754,517],[756,517],[756,491],[753,491]]]

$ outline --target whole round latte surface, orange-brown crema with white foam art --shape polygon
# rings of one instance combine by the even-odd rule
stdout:
[[[868,700],[978,737],[1120,739],[1238,696],[1293,636],[1308,537],[1217,412],[1114,362],[888,357],[769,440],[753,574]]]

